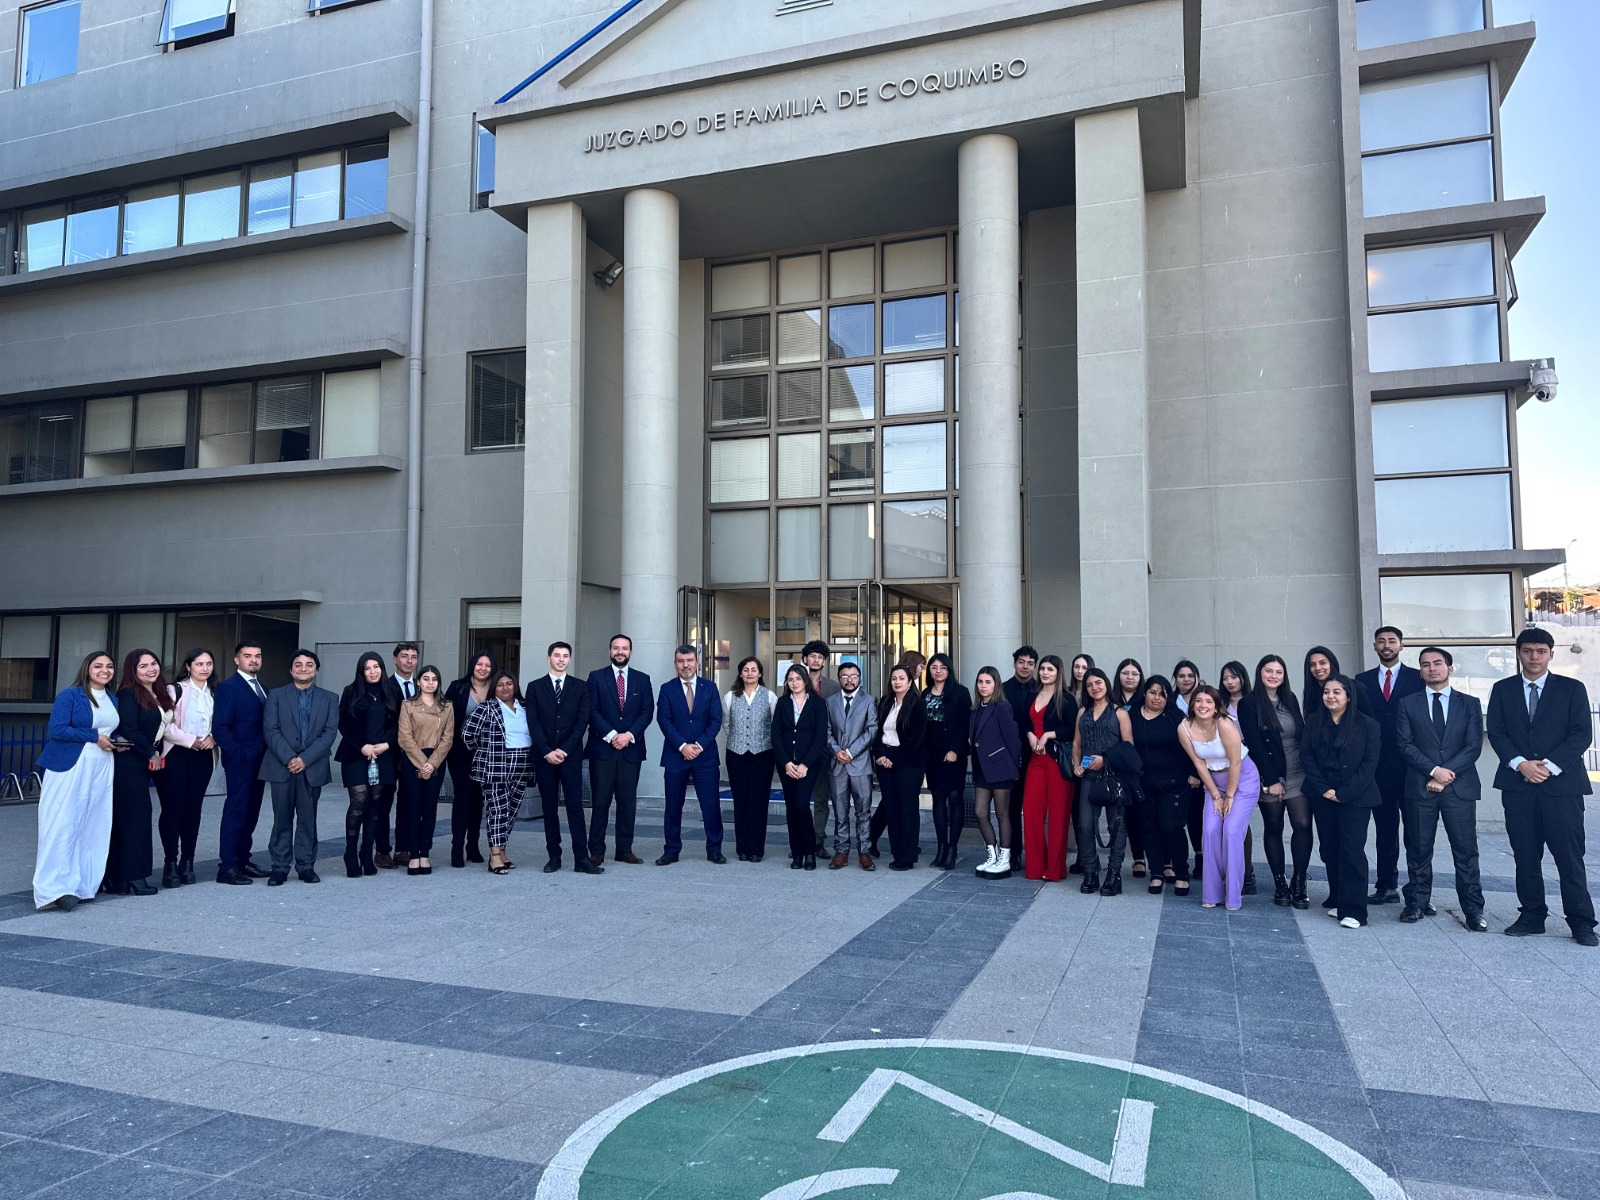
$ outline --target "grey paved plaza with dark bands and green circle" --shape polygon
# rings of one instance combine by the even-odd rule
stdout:
[[[1600,954],[1499,936],[1499,834],[1472,934],[1448,851],[1437,917],[1347,931],[1320,882],[981,882],[971,829],[954,872],[712,866],[691,827],[544,875],[538,822],[506,878],[325,842],[315,886],[35,914],[34,819],[0,808],[8,1200],[1600,1197]]]

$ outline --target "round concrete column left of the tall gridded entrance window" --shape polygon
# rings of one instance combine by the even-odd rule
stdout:
[[[678,640],[678,202],[622,198],[622,632],[659,685]]]

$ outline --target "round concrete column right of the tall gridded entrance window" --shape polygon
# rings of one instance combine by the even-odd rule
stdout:
[[[1006,667],[1022,642],[1021,226],[1016,142],[962,142],[962,578],[957,669]],[[1002,672],[1003,674],[1003,672]]]

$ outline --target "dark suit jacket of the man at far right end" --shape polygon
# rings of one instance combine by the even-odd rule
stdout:
[[[1589,691],[1574,678],[1546,672],[1539,710],[1528,722],[1528,693],[1522,672],[1502,678],[1490,691],[1490,746],[1499,758],[1494,787],[1501,792],[1589,795],[1584,752],[1594,739],[1589,728]],[[1510,766],[1512,758],[1547,758],[1562,768],[1542,784],[1530,784]]]

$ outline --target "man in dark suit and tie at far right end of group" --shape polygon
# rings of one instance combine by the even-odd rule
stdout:
[[[1544,850],[1562,880],[1562,912],[1579,946],[1600,946],[1595,906],[1584,872],[1584,752],[1594,741],[1589,693],[1574,678],[1550,674],[1555,638],[1546,629],[1517,635],[1522,672],[1490,693],[1490,746],[1499,758],[1494,787],[1506,806],[1506,835],[1517,862],[1517,907],[1506,926],[1512,938],[1544,933]]]

